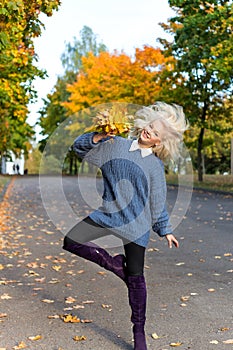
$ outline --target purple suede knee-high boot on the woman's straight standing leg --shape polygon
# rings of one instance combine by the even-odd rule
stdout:
[[[144,276],[128,276],[129,304],[132,310],[134,350],[147,350],[145,337],[146,282]]]

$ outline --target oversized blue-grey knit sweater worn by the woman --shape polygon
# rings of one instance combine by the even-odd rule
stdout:
[[[74,142],[77,155],[102,171],[102,206],[89,215],[91,219],[143,247],[151,228],[159,236],[172,233],[162,162],[154,154],[142,157],[139,149],[129,151],[132,140],[116,136],[93,143],[94,134]]]

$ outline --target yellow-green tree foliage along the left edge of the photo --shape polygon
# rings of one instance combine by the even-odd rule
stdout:
[[[35,62],[33,39],[41,34],[40,12],[52,15],[59,0],[2,0],[0,9],[0,152],[28,150],[33,135],[28,103],[36,97],[32,82],[44,77]]]

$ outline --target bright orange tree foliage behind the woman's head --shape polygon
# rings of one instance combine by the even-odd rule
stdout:
[[[71,114],[108,102],[151,104],[160,91],[159,73],[166,60],[160,49],[149,46],[136,49],[134,59],[118,52],[90,53],[83,57],[76,81],[67,86],[70,99],[62,105]]]

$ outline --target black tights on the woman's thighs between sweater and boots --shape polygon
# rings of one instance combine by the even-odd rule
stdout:
[[[84,244],[93,241],[97,238],[114,234],[108,228],[96,224],[90,217],[85,218],[83,221],[75,225],[66,237],[69,237],[73,241]],[[66,245],[66,237],[64,239],[64,245]],[[119,236],[117,236],[119,238]],[[120,237],[122,239],[122,237]],[[122,239],[123,240],[123,239]],[[145,260],[145,248],[134,243],[123,240],[126,268],[129,276],[142,276],[144,272],[144,260]]]

